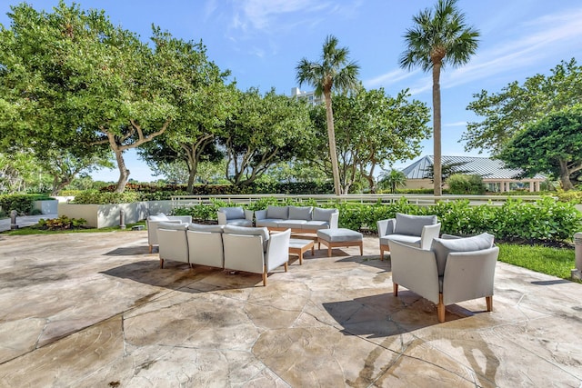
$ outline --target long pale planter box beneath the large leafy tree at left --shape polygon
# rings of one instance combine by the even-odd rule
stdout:
[[[147,217],[147,202],[133,204],[58,204],[58,216],[85,218],[86,225],[106,228],[119,225],[119,212],[125,212],[125,224],[134,224]]]

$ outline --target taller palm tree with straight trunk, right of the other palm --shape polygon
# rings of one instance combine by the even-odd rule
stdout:
[[[435,146],[435,195],[441,188],[440,70],[445,65],[465,65],[477,51],[479,32],[465,23],[457,0],[438,0],[435,13],[425,9],[413,17],[415,25],[406,30],[406,50],[400,66],[410,70],[420,66],[433,74],[433,138]]]

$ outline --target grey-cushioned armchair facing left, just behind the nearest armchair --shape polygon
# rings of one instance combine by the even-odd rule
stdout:
[[[380,238],[380,260],[384,260],[385,251],[390,251],[391,241],[428,249],[433,239],[440,233],[437,215],[396,213],[396,218],[380,220],[377,226]]]

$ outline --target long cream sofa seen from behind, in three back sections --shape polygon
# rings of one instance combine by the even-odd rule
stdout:
[[[157,233],[160,268],[172,260],[245,271],[262,274],[264,285],[275,268],[287,271],[290,230],[269,234],[266,228],[161,223]]]

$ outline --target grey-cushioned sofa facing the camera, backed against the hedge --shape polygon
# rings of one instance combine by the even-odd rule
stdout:
[[[339,211],[313,206],[267,206],[255,212],[256,226],[270,231],[291,229],[292,233],[316,234],[320,229],[337,229]]]

